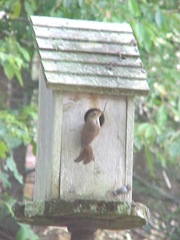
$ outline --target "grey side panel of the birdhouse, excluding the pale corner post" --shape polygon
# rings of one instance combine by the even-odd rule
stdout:
[[[46,198],[46,189],[47,185],[49,185],[48,181],[52,171],[48,138],[51,137],[53,126],[47,127],[46,125],[48,120],[51,120],[53,117],[52,105],[53,91],[46,88],[42,74],[39,81],[39,123],[34,200],[44,200]]]

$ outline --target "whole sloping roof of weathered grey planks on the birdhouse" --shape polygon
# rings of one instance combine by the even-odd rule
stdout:
[[[31,17],[47,87],[144,95],[149,87],[127,23]]]

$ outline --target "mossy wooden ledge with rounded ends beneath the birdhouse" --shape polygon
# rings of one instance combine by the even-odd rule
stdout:
[[[17,202],[13,207],[19,222],[41,226],[74,226],[87,229],[124,230],[142,227],[149,219],[141,203],[95,200]]]

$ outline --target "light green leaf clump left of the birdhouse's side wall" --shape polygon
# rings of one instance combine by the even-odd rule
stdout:
[[[36,139],[34,122],[37,119],[35,106],[26,106],[19,111],[0,111],[0,158],[6,159],[4,172],[0,175],[3,187],[9,187],[8,171],[13,173],[16,180],[23,184],[22,176],[18,173],[13,159],[12,150],[21,144],[27,145]],[[6,175],[7,174],[7,175]]]

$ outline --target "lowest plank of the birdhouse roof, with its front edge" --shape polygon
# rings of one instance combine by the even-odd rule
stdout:
[[[45,72],[47,86],[59,91],[94,92],[108,95],[147,94],[149,87],[146,81],[108,78],[103,76],[77,76]],[[128,94],[129,95],[129,94]]]

